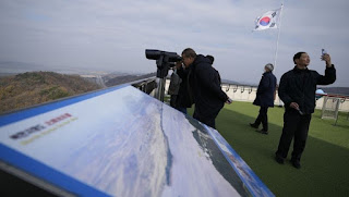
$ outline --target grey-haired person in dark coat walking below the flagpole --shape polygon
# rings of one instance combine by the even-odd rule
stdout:
[[[250,123],[250,125],[254,128],[258,128],[262,123],[263,128],[257,131],[262,134],[268,134],[268,108],[274,107],[274,97],[275,97],[275,88],[276,88],[276,77],[273,74],[274,65],[268,63],[264,66],[265,72],[261,78],[256,98],[253,102],[255,106],[260,106],[260,114],[254,123]]]

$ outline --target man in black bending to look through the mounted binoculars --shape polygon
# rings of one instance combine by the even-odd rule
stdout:
[[[182,59],[185,67],[190,67],[189,85],[195,101],[193,118],[216,128],[216,116],[225,102],[231,103],[231,99],[221,90],[218,74],[208,58],[196,56],[188,48],[183,50]]]

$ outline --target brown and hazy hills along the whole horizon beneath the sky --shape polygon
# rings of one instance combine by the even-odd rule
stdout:
[[[106,86],[111,87],[156,76],[156,73],[142,75],[120,72],[105,73],[101,71],[59,71],[60,73],[76,73],[74,75],[68,75],[53,72],[40,72],[45,67],[41,65],[31,63],[0,62],[0,113],[92,91]],[[87,74],[89,78],[87,76],[86,78],[80,76],[84,74]],[[229,79],[222,79],[222,83],[257,86]],[[318,86],[317,88],[330,95],[349,96],[349,87]]]

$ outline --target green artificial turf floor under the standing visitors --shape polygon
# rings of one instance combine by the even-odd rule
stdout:
[[[276,196],[349,196],[349,120],[340,113],[335,120],[322,120],[321,111],[312,116],[301,169],[274,160],[281,135],[284,108],[268,110],[269,134],[250,127],[260,108],[236,101],[225,106],[216,119],[219,133],[243,158]],[[192,114],[193,109],[189,110]],[[262,125],[261,125],[262,126]]]

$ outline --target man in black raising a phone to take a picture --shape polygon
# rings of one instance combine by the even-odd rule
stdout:
[[[291,163],[297,169],[301,168],[300,159],[305,148],[309,125],[315,108],[316,85],[328,85],[336,81],[336,70],[329,54],[322,56],[322,60],[326,62],[325,76],[308,69],[310,58],[306,52],[296,53],[294,69],[281,76],[278,93],[285,103],[284,128],[275,153],[275,159],[280,164],[284,163],[294,138]]]

